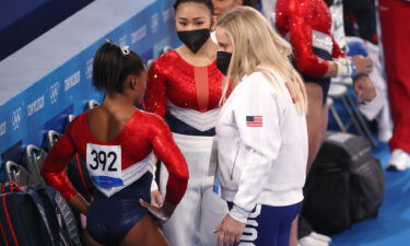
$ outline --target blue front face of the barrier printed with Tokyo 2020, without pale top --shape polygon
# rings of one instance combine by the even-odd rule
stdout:
[[[93,56],[105,37],[129,45],[145,60],[156,57],[165,45],[177,46],[172,3],[156,0],[1,105],[0,174],[5,161],[22,163],[22,149],[26,144],[44,147],[47,130],[61,132],[69,114],[81,114],[89,99],[103,99],[91,87],[91,77]]]

